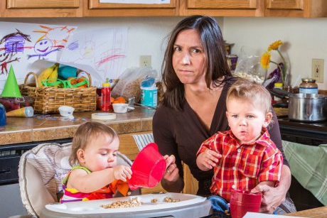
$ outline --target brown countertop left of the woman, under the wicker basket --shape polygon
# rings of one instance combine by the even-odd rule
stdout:
[[[114,128],[119,134],[151,131],[154,111],[139,107],[126,114],[116,114],[116,119],[108,121],[91,119],[93,113],[101,111],[77,112],[73,114],[73,120],[65,119],[60,114],[36,114],[31,118],[7,117],[6,126],[0,127],[0,146],[73,138],[78,126],[85,121],[100,121]]]

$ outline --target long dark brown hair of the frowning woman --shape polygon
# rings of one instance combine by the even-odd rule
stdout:
[[[184,18],[177,24],[168,38],[164,62],[161,66],[163,82],[161,91],[164,92],[161,102],[167,107],[178,110],[183,108],[185,97],[183,83],[181,83],[173,70],[173,46],[178,34],[181,31],[190,29],[198,31],[204,49],[205,82],[207,87],[210,88],[212,84],[214,86],[223,85],[232,76],[227,64],[223,36],[215,19],[210,16],[199,15]],[[220,80],[222,77],[224,77],[224,80]]]

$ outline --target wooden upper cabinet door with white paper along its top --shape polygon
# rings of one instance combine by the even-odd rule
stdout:
[[[100,0],[85,0],[83,16],[177,16],[178,0],[170,4],[119,4],[100,3]],[[85,2],[84,1],[84,2]]]

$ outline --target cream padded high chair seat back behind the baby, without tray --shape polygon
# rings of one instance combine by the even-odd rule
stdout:
[[[43,143],[21,156],[18,168],[21,200],[31,217],[39,217],[45,205],[60,199],[62,180],[72,168],[68,161],[71,145]],[[117,163],[132,165],[122,153],[117,153]],[[141,191],[132,191],[132,195],[141,195]]]

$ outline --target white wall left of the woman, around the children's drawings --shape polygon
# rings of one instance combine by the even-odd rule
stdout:
[[[151,55],[151,65],[160,72],[164,54],[164,38],[180,21],[180,17],[145,17],[145,18],[2,18],[0,21],[20,23],[43,23],[77,26],[77,31],[89,31],[97,28],[128,28],[127,67],[138,67],[140,55]],[[222,19],[220,19],[222,20]],[[39,66],[38,66],[39,67]],[[41,72],[41,69],[28,69],[27,72]],[[24,78],[17,78],[18,84]],[[0,90],[5,81],[1,81]]]

